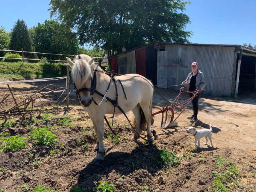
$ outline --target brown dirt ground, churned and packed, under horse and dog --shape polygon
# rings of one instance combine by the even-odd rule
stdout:
[[[64,81],[9,85],[18,103],[29,93],[48,84],[65,87]],[[35,118],[33,124],[26,124],[22,116],[11,116],[8,122],[12,124],[0,126],[0,137],[19,135],[29,138],[35,128],[50,125],[58,141],[49,147],[33,145],[33,141],[28,139],[26,148],[0,153],[0,191],[32,191],[41,185],[60,192],[82,191],[83,188],[90,192],[99,185],[98,181],[107,180],[108,184],[114,186],[115,192],[214,191],[214,171],[224,173],[227,170],[227,167],[217,165],[218,157],[229,161],[229,165],[236,166],[239,171],[239,176],[235,178],[237,183],[232,187],[230,183],[224,184],[224,187],[238,192],[256,191],[255,92],[240,94],[237,99],[202,94],[197,123],[187,119],[192,113],[191,104],[180,116],[179,113],[174,115],[174,118],[178,116],[178,126],[161,128],[161,114],[156,115],[152,125],[152,129],[156,130],[156,138],[152,144],[142,139],[133,141],[128,121],[123,115],[116,115],[113,129],[120,135],[120,142],[113,140],[110,136],[112,132],[105,124],[104,146],[107,154],[102,164],[93,164],[96,136],[92,122],[76,100],[72,83],[70,90],[68,108],[66,100],[63,101],[66,93],[62,96],[59,92],[50,93],[35,100],[34,108],[42,110],[42,114],[48,114],[51,118]],[[170,102],[179,94],[174,90],[156,88],[152,112],[170,105],[158,93]],[[0,84],[0,102],[6,94],[10,94],[7,84]],[[186,99],[187,95],[184,94],[179,101]],[[9,96],[0,103],[0,111],[3,113],[14,105],[12,96]],[[37,114],[35,112],[32,115],[36,117]],[[132,120],[132,113],[127,115]],[[60,121],[64,118],[70,119],[70,122]],[[109,121],[112,121],[111,118]],[[196,148],[193,145],[194,137],[185,130],[189,126],[209,128],[209,124],[213,128],[214,147],[204,145],[205,139],[202,138],[201,147]],[[0,141],[0,144],[3,142]],[[180,160],[172,165],[163,164],[159,156],[164,149],[174,152]]]

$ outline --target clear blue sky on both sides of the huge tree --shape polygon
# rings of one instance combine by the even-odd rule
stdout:
[[[28,28],[50,19],[50,0],[0,0],[0,27],[9,32],[17,20]],[[190,17],[188,40],[199,44],[256,45],[256,0],[192,0],[183,13]]]

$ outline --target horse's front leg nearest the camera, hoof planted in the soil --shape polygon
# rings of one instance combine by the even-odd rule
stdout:
[[[98,148],[98,154],[96,158],[94,159],[94,163],[100,163],[102,160],[104,160],[104,156],[106,155],[106,150],[104,148],[104,143],[103,143],[103,136],[104,136],[104,115],[102,118],[100,116],[97,117],[96,119],[96,124],[97,124],[97,146]]]

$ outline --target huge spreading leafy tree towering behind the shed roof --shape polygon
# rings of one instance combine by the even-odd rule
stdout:
[[[51,16],[74,28],[81,45],[94,44],[121,52],[149,42],[188,42],[189,1],[182,0],[51,0]]]

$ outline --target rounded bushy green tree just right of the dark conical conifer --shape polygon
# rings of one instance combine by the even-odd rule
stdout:
[[[70,28],[54,20],[45,20],[44,24],[30,29],[36,52],[52,54],[77,54],[78,40]],[[66,60],[66,56],[42,55],[50,60]]]

